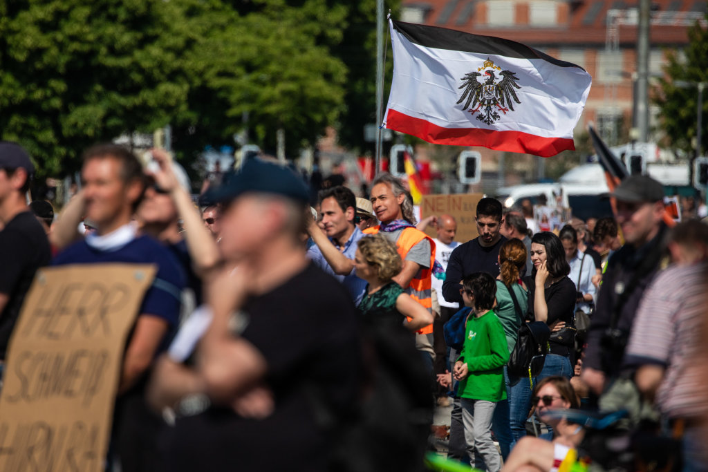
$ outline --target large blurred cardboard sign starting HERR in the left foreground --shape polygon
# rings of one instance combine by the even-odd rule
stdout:
[[[152,265],[38,270],[0,393],[0,471],[103,471],[125,340]]]

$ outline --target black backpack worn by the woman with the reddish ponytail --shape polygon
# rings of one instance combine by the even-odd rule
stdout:
[[[543,321],[521,323],[516,345],[509,356],[509,374],[517,377],[535,377],[541,373],[548,353],[551,330]]]

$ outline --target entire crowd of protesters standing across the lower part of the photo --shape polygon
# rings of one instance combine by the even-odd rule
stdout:
[[[684,470],[708,467],[708,226],[669,228],[656,180],[625,179],[616,219],[557,234],[484,197],[479,236],[455,241],[455,218],[416,221],[388,173],[312,202],[300,175],[253,159],[197,206],[166,151],[146,156],[87,149],[55,217],[28,205],[28,154],[0,143],[0,369],[39,267],[156,266],[105,470],[422,470],[436,401],[452,405],[447,456],[489,472],[592,451],[590,423],[563,413],[578,408],[627,410],[629,431],[653,415]],[[549,333],[542,369],[516,376],[530,322]]]

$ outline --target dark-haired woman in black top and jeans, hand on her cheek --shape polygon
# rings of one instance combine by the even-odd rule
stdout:
[[[529,287],[527,321],[543,321],[552,331],[561,326],[571,326],[577,291],[568,278],[571,268],[558,236],[548,231],[535,234],[531,238],[531,262],[534,267],[531,276],[526,279]],[[566,379],[573,376],[573,341],[573,336],[563,340],[552,337],[541,373],[535,379],[512,382],[513,401],[509,404],[509,416],[515,441],[526,435],[531,391],[536,382],[554,375]]]

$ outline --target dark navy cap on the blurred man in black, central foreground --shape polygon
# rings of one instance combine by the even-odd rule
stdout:
[[[208,189],[200,197],[200,204],[229,202],[246,192],[282,195],[298,202],[309,201],[307,185],[290,168],[261,159],[249,159],[240,172],[225,173],[220,185]]]

